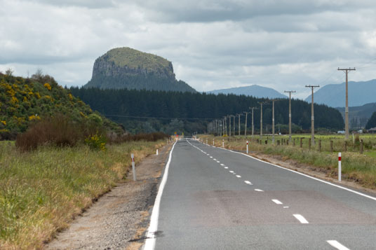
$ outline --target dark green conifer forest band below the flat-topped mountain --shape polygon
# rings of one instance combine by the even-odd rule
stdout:
[[[192,92],[100,90],[98,88],[70,88],[70,90],[72,95],[81,98],[92,109],[118,123],[122,123],[126,130],[131,132],[154,132],[153,130],[167,133],[173,130],[204,132],[206,125],[211,120],[206,120],[206,118],[222,118],[226,115],[250,111],[249,107],[252,106],[258,108],[254,113],[255,128],[258,130],[260,128],[260,104],[258,102],[269,101],[268,99],[245,95],[213,95]],[[288,124],[288,99],[275,102],[274,108],[275,123]],[[344,120],[337,109],[316,104],[314,109],[316,128],[343,129]],[[153,117],[156,119],[145,120],[144,118],[122,116]],[[271,128],[271,116],[270,101],[269,104],[263,106],[263,127],[268,125],[268,130]],[[178,120],[170,118],[177,118]],[[197,118],[197,120],[191,120],[193,118]],[[311,104],[293,99],[292,121],[296,125],[295,127],[308,131],[311,126]],[[236,118],[236,126],[237,123]],[[244,123],[244,116],[241,117],[241,123]],[[250,127],[250,125],[251,120],[248,116],[247,127]]]

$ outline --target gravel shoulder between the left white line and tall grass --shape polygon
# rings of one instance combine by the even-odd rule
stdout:
[[[136,166],[137,181],[129,172],[45,249],[140,249],[171,146],[145,158]]]

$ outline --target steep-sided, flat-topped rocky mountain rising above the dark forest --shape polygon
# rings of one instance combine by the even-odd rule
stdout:
[[[93,76],[84,88],[196,92],[176,80],[171,62],[132,48],[114,48],[95,60]]]

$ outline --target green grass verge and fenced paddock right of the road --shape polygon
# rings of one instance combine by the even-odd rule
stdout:
[[[309,137],[309,135],[304,135],[305,137]],[[301,162],[307,165],[312,165],[318,169],[322,169],[327,173],[328,176],[337,179],[337,167],[338,167],[338,152],[341,151],[340,144],[343,143],[343,137],[336,137],[337,139],[337,147],[333,151],[330,152],[330,145],[328,146],[329,149],[322,148],[322,151],[319,152],[318,148],[311,148],[309,150],[308,146],[308,139],[305,139],[306,144],[300,148],[300,141],[295,140],[295,146],[293,144],[283,146],[276,146],[271,143],[271,136],[269,138],[267,136],[264,137],[262,144],[257,143],[256,138],[251,139],[250,137],[231,137],[231,138],[223,138],[223,137],[213,137],[213,136],[201,136],[203,141],[206,141],[208,138],[208,144],[213,144],[213,139],[215,139],[215,146],[222,147],[222,139],[224,139],[224,147],[233,149],[236,151],[243,151],[246,152],[246,140],[249,141],[248,149],[249,151],[265,153],[268,155],[281,155],[283,156],[283,160],[296,160],[297,162]],[[297,137],[303,137],[302,135],[296,135]],[[286,136],[276,136],[276,140],[281,139],[288,140]],[[317,138],[320,138],[317,137]],[[316,138],[316,139],[317,139]],[[333,137],[324,136],[321,137],[321,146],[326,143],[330,144],[330,139]],[[265,144],[265,140],[268,139],[268,144]],[[342,140],[342,141],[341,141]],[[370,144],[376,144],[375,136],[365,137],[364,140],[369,140]],[[304,141],[304,139],[303,139]],[[335,144],[333,142],[333,144]],[[325,150],[323,150],[325,149]],[[365,188],[372,188],[376,189],[376,150],[371,148],[365,149],[364,153],[358,153],[358,151],[350,151],[349,147],[347,148],[347,152],[342,151],[342,179],[347,179],[349,181],[356,181],[360,183]]]

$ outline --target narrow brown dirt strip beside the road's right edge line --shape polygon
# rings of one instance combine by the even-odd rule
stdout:
[[[266,155],[263,153],[250,153],[249,155],[259,160],[263,160],[265,162],[278,165],[280,167],[286,167],[288,169],[292,169],[297,172],[301,172],[302,174],[307,174],[309,176],[316,177],[318,179],[330,181],[332,183],[340,184],[341,186],[348,186],[350,188],[356,188],[358,190],[364,190],[365,192],[376,194],[376,190],[364,188],[363,186],[361,186],[361,184],[358,184],[354,181],[346,181],[343,179],[341,182],[337,181],[337,179],[335,179],[337,178],[337,174],[333,176],[333,172],[331,169],[324,169],[322,167],[315,167],[312,165],[303,164],[297,162],[296,160],[291,160],[289,158],[286,158],[286,156],[281,155]]]

